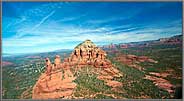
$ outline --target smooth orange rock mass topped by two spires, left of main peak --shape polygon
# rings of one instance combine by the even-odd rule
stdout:
[[[65,68],[56,55],[54,64],[46,58],[46,71],[41,74],[37,83],[33,87],[33,99],[56,99],[70,97],[76,84],[70,68]]]

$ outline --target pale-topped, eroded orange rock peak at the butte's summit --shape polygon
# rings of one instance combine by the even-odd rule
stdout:
[[[85,65],[93,65],[96,68],[109,68],[112,64],[106,59],[106,52],[97,47],[90,40],[86,40],[77,47],[71,54],[72,63],[76,63],[78,67]]]

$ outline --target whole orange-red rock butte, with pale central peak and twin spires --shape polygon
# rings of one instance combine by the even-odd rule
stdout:
[[[56,55],[54,64],[49,58],[45,59],[46,70],[39,77],[32,91],[33,99],[57,99],[71,98],[76,84],[71,68],[82,68],[93,66],[103,68],[101,75],[97,78],[104,80],[112,87],[121,86],[120,82],[111,81],[113,77],[121,77],[121,73],[115,69],[112,63],[106,59],[106,52],[97,47],[90,40],[86,40],[74,48],[74,51],[63,62],[59,55]],[[104,75],[109,74],[109,75]]]

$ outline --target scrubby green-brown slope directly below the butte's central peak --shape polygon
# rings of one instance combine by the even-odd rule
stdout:
[[[74,95],[76,97],[84,98],[107,98],[107,96],[102,94],[109,93],[110,87],[105,85],[104,81],[97,79],[97,74],[91,72],[92,70],[94,70],[93,67],[84,67],[79,71],[77,79],[74,81],[77,83],[77,89],[75,90]],[[96,93],[102,94],[91,96]]]

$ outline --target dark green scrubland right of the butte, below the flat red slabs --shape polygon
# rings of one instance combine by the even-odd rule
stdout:
[[[126,98],[170,98],[167,91],[159,89],[152,81],[143,79],[142,71],[115,61],[113,63],[124,75],[117,79],[124,84],[121,90],[125,93],[122,96]]]

